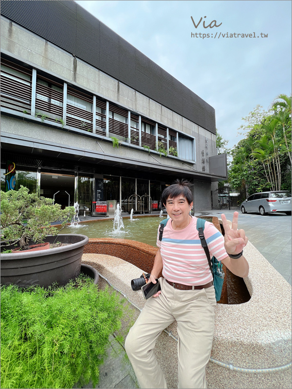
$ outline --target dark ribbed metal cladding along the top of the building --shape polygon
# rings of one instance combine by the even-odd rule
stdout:
[[[74,1],[1,1],[1,14],[216,133],[212,106]]]

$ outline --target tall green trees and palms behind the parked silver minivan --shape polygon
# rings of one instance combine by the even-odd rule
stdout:
[[[231,152],[230,184],[249,194],[290,189],[291,96],[278,95],[268,111],[257,105],[242,119],[239,130],[248,132]]]

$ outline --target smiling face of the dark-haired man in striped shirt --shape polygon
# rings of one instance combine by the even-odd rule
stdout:
[[[168,216],[172,219],[175,225],[183,225],[184,223],[188,225],[189,213],[192,209],[193,202],[189,204],[187,199],[183,195],[180,195],[175,198],[168,197],[164,206]]]

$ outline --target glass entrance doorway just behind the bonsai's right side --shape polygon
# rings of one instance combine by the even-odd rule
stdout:
[[[55,173],[41,173],[40,195],[55,199],[64,209],[74,204],[74,176]]]

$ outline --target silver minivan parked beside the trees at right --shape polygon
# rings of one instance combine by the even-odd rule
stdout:
[[[291,215],[291,193],[288,191],[273,191],[255,193],[249,196],[240,206],[241,212],[285,212]]]

